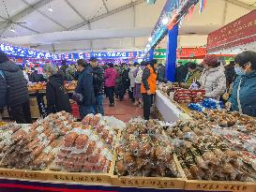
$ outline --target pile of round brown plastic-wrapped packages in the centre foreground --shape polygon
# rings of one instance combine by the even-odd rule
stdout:
[[[123,131],[115,171],[124,176],[179,177],[173,145],[157,120],[133,119]]]

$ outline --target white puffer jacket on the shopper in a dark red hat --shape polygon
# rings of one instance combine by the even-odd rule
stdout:
[[[224,66],[220,65],[208,70],[203,69],[199,83],[201,88],[205,89],[205,96],[219,99],[226,91],[226,76]]]

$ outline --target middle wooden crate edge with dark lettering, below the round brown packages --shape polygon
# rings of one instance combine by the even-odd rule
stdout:
[[[146,187],[146,188],[175,188],[184,189],[186,175],[181,169],[179,162],[175,155],[173,155],[177,170],[182,178],[169,178],[169,177],[131,177],[131,176],[118,176],[113,174],[111,184],[114,186],[128,186],[128,187]],[[115,166],[114,166],[115,167]]]

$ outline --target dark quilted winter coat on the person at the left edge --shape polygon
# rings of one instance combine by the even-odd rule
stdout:
[[[0,77],[0,99],[5,99],[8,106],[21,105],[29,100],[23,71],[11,61],[0,64],[5,80]]]

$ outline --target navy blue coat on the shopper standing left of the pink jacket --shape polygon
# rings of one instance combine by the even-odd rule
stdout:
[[[88,106],[94,105],[96,103],[92,66],[84,67],[83,71],[79,76],[75,92],[83,95],[83,102],[81,103],[81,105]]]

